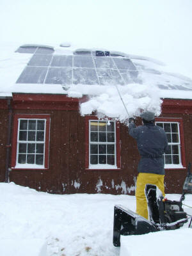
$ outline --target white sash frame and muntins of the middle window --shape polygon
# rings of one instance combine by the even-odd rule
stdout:
[[[104,142],[104,141],[91,141],[91,129],[90,129],[90,127],[91,127],[91,122],[106,122],[107,123],[107,125],[108,125],[108,122],[113,122],[113,124],[114,124],[114,142],[108,142],[108,141],[106,141],[106,142]],[[89,126],[88,126],[89,128],[89,169],[116,169],[117,168],[117,166],[116,166],[116,122],[115,121],[113,121],[113,120],[95,120],[95,119],[90,119],[89,120]],[[98,127],[99,127],[99,125],[98,125]],[[98,131],[99,132],[99,131]],[[106,131],[106,134],[108,133],[108,131]],[[114,145],[114,150],[115,150],[115,153],[114,153],[114,157],[115,157],[115,164],[91,164],[90,163],[90,157],[91,157],[91,153],[90,153],[90,145],[91,144],[95,144],[95,145]],[[101,154],[99,154],[99,152],[98,152],[98,154],[97,154],[98,156],[100,156]],[[108,155],[110,155],[110,154],[107,154],[107,152],[106,152],[106,156],[108,156]]]

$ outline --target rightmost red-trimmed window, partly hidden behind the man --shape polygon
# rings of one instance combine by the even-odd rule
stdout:
[[[166,132],[168,139],[168,152],[164,154],[165,168],[183,168],[184,161],[184,139],[182,131],[182,119],[161,118],[156,125],[161,126]]]

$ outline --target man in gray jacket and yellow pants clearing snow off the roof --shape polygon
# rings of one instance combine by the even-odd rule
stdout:
[[[163,153],[168,148],[168,141],[163,128],[155,125],[154,113],[145,111],[140,116],[143,125],[138,127],[134,118],[129,118],[129,134],[136,139],[141,156],[136,184],[136,212],[148,219],[145,185],[155,184],[164,196]]]

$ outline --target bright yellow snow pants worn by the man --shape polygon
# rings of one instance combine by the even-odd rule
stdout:
[[[147,200],[145,197],[145,185],[156,185],[164,196],[164,175],[155,173],[139,173],[136,183],[136,213],[148,219]]]

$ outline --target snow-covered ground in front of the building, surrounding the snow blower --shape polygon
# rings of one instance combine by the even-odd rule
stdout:
[[[112,242],[114,205],[121,204],[132,211],[136,207],[134,196],[50,195],[13,182],[0,183],[0,195],[1,256],[7,256],[14,243],[17,248],[26,246],[23,249],[29,255],[30,241],[33,248],[34,243],[37,247],[39,241],[44,241],[47,256],[118,256],[120,248]],[[179,200],[180,195],[166,197]],[[192,195],[186,196],[184,204],[192,206]],[[192,215],[191,208],[184,206],[184,210]],[[156,255],[160,255],[158,248],[164,255],[191,255],[191,234],[192,228],[186,223],[179,230],[126,237],[129,255],[148,255],[147,246]],[[15,251],[14,256],[20,255]]]

